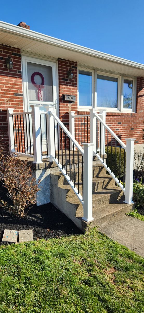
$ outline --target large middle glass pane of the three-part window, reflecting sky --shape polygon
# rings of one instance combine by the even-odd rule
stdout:
[[[97,106],[118,107],[118,78],[97,75]]]

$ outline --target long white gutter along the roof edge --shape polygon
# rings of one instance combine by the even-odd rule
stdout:
[[[135,67],[138,69],[144,69],[144,64],[130,61],[127,59],[122,59],[120,57],[116,57],[111,54],[96,51],[94,49],[86,48],[78,44],[72,44],[70,42],[67,42],[58,38],[50,37],[41,33],[37,33],[33,30],[22,28],[22,27],[9,24],[6,22],[0,21],[0,31],[5,32],[5,33],[12,33],[22,38],[25,37],[25,38],[30,38],[31,40],[41,41],[46,44],[52,44],[61,48],[65,48],[65,49],[69,49],[75,52],[87,54],[89,56],[94,56],[97,58],[113,61],[113,62],[120,63],[123,65],[128,65],[128,66]]]

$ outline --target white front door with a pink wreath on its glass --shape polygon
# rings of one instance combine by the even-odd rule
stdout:
[[[46,152],[46,115],[49,105],[54,105],[57,114],[56,62],[22,56],[24,110],[31,111],[31,104],[41,105],[42,151]],[[32,132],[31,132],[32,133]]]

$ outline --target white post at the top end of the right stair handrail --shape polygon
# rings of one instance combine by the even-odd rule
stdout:
[[[94,143],[93,150],[96,151],[96,131],[97,131],[97,118],[94,112],[97,113],[96,109],[90,109],[90,142]]]

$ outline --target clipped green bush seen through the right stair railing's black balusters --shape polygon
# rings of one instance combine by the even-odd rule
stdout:
[[[106,153],[108,154],[108,167],[111,168],[111,146],[106,147]],[[116,177],[119,177],[119,153],[120,148],[117,147],[116,153]],[[126,153],[125,153],[125,169],[126,169]],[[112,147],[112,172],[115,174],[115,147]],[[124,175],[124,149],[121,148],[121,165],[120,165],[120,177]]]

